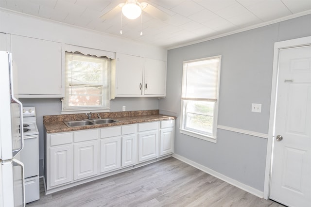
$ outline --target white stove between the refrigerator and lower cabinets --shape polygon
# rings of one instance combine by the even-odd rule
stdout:
[[[24,149],[20,161],[24,163],[26,204],[40,198],[39,185],[39,132],[35,107],[23,108]]]

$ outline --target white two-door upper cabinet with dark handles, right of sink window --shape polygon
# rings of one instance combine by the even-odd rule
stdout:
[[[115,70],[115,85],[112,90],[115,89],[116,97],[166,95],[164,61],[117,53]]]

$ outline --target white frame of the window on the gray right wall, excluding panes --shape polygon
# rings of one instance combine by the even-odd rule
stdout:
[[[208,142],[216,143],[217,140],[217,124],[218,124],[218,108],[219,108],[219,86],[220,86],[220,72],[221,72],[221,55],[218,56],[212,56],[212,57],[207,57],[207,58],[201,58],[201,59],[195,59],[195,60],[190,60],[190,61],[184,61],[183,62],[183,67],[184,64],[187,63],[193,63],[193,62],[199,62],[199,61],[205,61],[205,60],[212,60],[212,59],[219,59],[219,64],[218,64],[218,74],[217,74],[217,92],[216,92],[216,100],[211,100],[211,99],[206,99],[206,98],[183,98],[181,96],[181,112],[180,112],[180,127],[179,127],[179,132],[182,134],[189,135],[191,137],[195,137],[198,139],[202,139]],[[183,79],[184,79],[184,69],[183,69]],[[182,88],[185,86],[184,80],[182,80]],[[183,89],[182,89],[183,93]],[[212,126],[212,134],[208,133],[202,133],[199,130],[191,129],[186,127],[186,119],[187,119],[187,111],[186,107],[187,104],[189,104],[189,101],[203,101],[203,102],[214,102],[214,110],[213,110],[213,126]]]

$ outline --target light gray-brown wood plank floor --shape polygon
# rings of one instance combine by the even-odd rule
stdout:
[[[27,207],[283,207],[168,158],[67,190]]]

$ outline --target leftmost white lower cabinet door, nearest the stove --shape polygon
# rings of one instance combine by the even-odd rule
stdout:
[[[71,179],[71,146],[51,147],[50,187],[68,183]],[[49,186],[49,183],[47,184]]]

